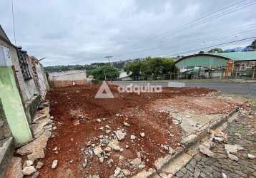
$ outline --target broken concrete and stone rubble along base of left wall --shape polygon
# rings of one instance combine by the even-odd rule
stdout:
[[[22,159],[21,157],[14,157],[12,159],[10,169],[12,170],[12,174],[15,174],[14,177],[37,177],[39,172],[36,172],[36,170],[44,166],[41,159],[45,156],[44,150],[47,141],[51,137],[54,137],[54,135],[51,135],[51,131],[56,130],[56,126],[54,126],[53,122],[54,117],[49,115],[49,101],[42,103],[39,109],[36,112],[34,120],[31,122],[34,140],[16,150],[16,153]]]

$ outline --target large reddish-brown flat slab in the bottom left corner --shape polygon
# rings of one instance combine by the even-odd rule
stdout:
[[[20,157],[12,157],[9,162],[9,167],[6,169],[5,177],[8,178],[22,178],[22,159]]]

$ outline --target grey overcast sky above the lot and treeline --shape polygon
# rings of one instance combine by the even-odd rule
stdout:
[[[256,36],[256,4],[251,2],[255,0],[14,0],[16,46],[36,58],[47,57],[44,66],[106,62],[104,56],[114,56],[113,61],[176,56]],[[217,12],[211,21],[186,27],[219,9],[227,14],[217,18]],[[11,0],[0,1],[0,14],[1,26],[14,43]]]

